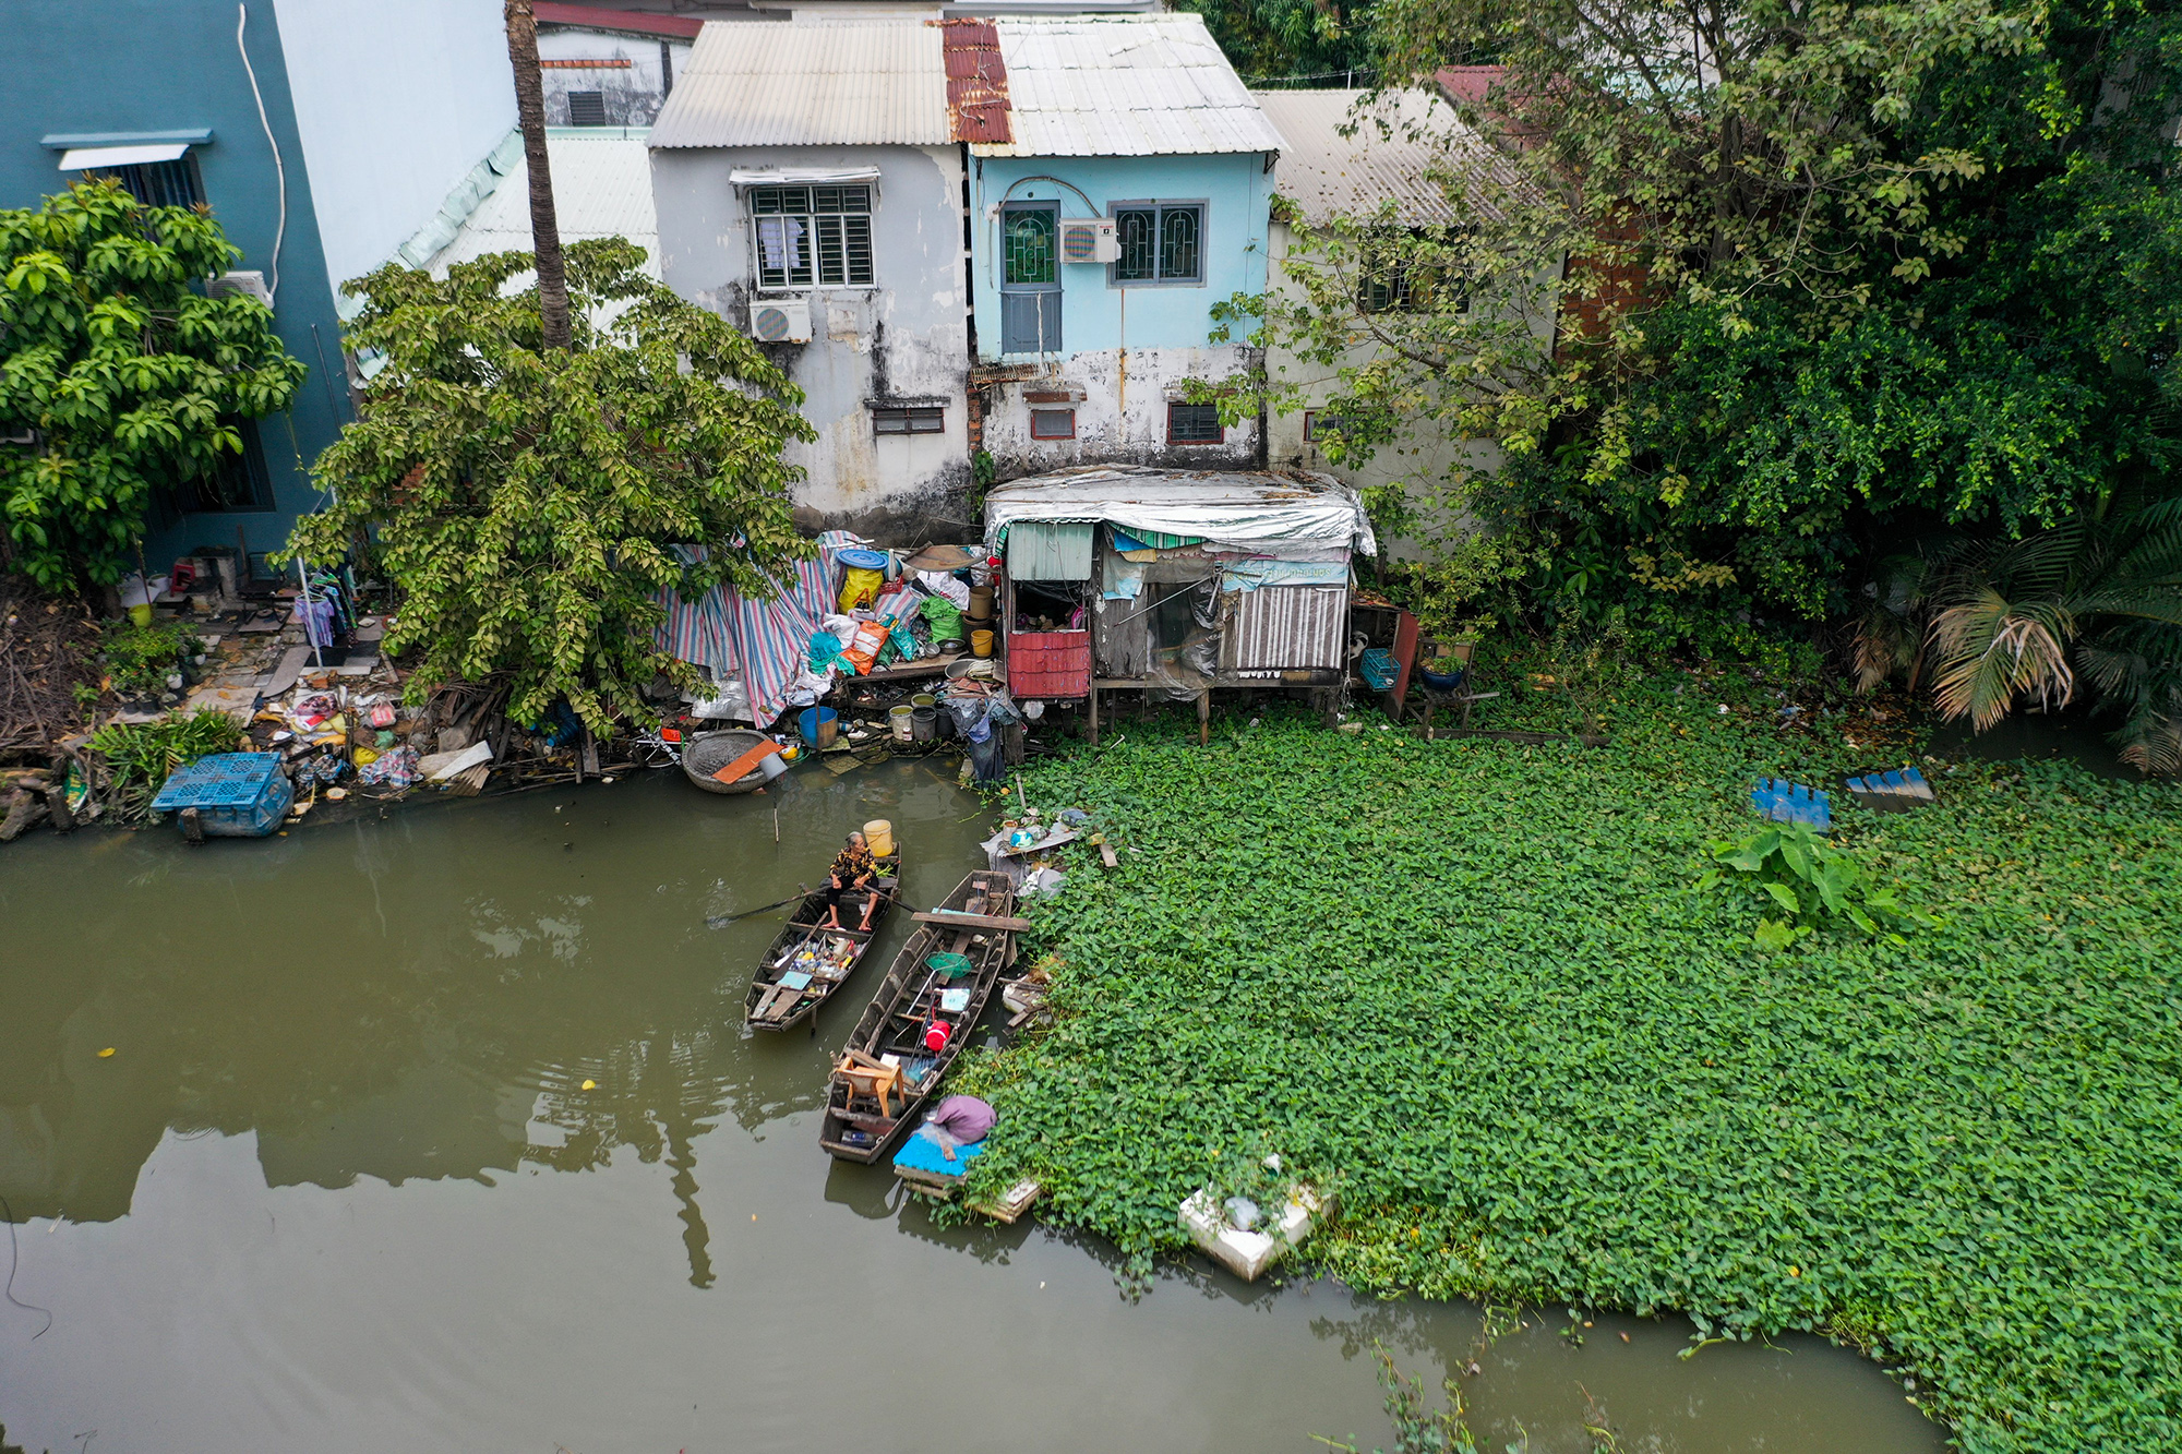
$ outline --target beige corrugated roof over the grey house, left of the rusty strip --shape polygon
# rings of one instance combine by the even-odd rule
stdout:
[[[947,65],[923,20],[705,22],[652,146],[945,146]]]

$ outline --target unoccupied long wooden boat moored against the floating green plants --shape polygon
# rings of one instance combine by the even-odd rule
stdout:
[[[971,873],[934,915],[964,915],[1015,923],[1015,886],[1006,873]],[[925,915],[919,915],[925,919]],[[925,961],[936,954],[962,954],[971,969],[954,980],[940,978]],[[827,1087],[825,1120],[818,1124],[818,1144],[842,1161],[877,1161],[916,1124],[916,1113],[938,1089],[962,1046],[969,1044],[971,1026],[984,1013],[999,972],[1015,958],[1015,932],[991,923],[919,923],[910,941],[901,945],[895,965],[886,972],[879,993],[864,1006],[864,1017],[849,1035],[849,1048],[836,1061],[834,1083]],[[960,989],[964,993],[943,993]],[[954,1009],[949,1009],[954,1004]],[[925,1048],[925,1030],[934,1022],[949,1026],[947,1044],[940,1050]],[[851,1078],[849,1072],[858,1072]],[[888,1078],[899,1072],[892,1094],[875,1098],[866,1094],[871,1074]]]

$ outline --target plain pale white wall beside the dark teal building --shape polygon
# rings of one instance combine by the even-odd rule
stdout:
[[[338,288],[393,258],[515,127],[502,7],[273,0],[273,13],[303,140],[288,186],[308,170]]]

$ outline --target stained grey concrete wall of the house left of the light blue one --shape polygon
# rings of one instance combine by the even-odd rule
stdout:
[[[969,517],[969,299],[962,159],[954,146],[655,148],[659,262],[674,293],[748,325],[751,218],[735,168],[877,166],[871,288],[799,288],[812,341],[768,345],[805,393],[816,443],[792,445],[807,478],[799,515],[884,539]],[[792,297],[772,293],[768,297]],[[873,434],[873,404],[945,410],[940,434]],[[958,526],[956,526],[958,528]],[[954,539],[934,533],[932,539]]]

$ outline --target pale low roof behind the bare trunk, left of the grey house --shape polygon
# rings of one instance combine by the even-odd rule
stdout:
[[[644,131],[583,131],[589,129],[554,129],[546,138],[561,240],[628,238],[646,253],[644,271],[659,277],[659,214],[652,212],[652,157]],[[530,251],[530,168],[519,148],[500,186],[478,201],[425,269],[445,277],[456,262],[506,251]]]

